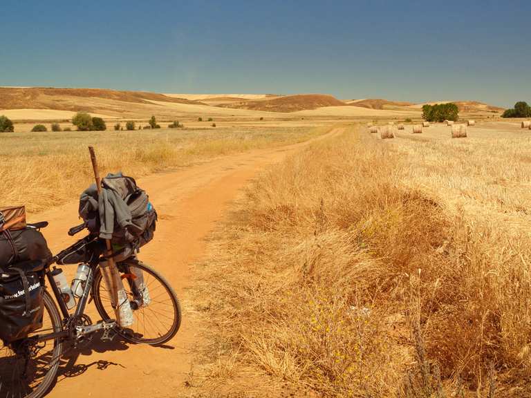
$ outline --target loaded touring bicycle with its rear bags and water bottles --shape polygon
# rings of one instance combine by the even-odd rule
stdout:
[[[88,234],[52,256],[39,231],[48,222],[26,224],[23,207],[0,209],[0,398],[45,395],[55,381],[59,359],[83,341],[118,338],[162,345],[178,332],[181,313],[174,290],[136,256],[142,239],[147,242],[153,236],[156,213],[149,202],[146,210],[152,212],[152,222],[137,231],[142,238],[133,234],[133,245],[113,243],[115,250],[109,254],[100,229],[87,218],[68,234],[86,229]],[[118,301],[111,292],[110,261],[118,270]],[[57,267],[68,264],[78,265],[71,284]],[[85,312],[91,302],[101,317],[98,321]]]

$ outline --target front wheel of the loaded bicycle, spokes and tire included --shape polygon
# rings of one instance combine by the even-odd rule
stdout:
[[[122,282],[133,309],[134,322],[120,334],[127,341],[160,345],[171,340],[180,328],[181,312],[179,300],[169,283],[153,268],[138,260],[118,265]],[[124,269],[128,268],[128,269]],[[144,279],[144,293],[134,285],[136,275],[141,271]],[[111,294],[105,285],[100,269],[94,277],[93,298],[102,319],[112,318]]]

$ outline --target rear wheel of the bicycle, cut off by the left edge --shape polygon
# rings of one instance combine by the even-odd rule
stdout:
[[[44,291],[42,328],[29,337],[61,330],[55,302]],[[62,346],[60,339],[37,343],[28,338],[8,345],[0,341],[0,398],[39,398],[46,394],[55,381]]]

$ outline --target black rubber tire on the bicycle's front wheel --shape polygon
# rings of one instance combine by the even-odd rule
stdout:
[[[175,294],[171,285],[169,285],[169,283],[166,281],[166,279],[162,275],[160,275],[158,272],[156,272],[152,267],[150,267],[149,265],[145,263],[142,263],[141,261],[138,261],[134,265],[130,265],[130,266],[138,267],[139,269],[142,270],[142,272],[146,272],[147,274],[150,274],[151,276],[153,276],[153,278],[155,278],[160,283],[160,285],[162,285],[162,287],[165,288],[169,298],[171,299],[171,303],[173,306],[174,321],[171,323],[171,327],[169,328],[169,330],[167,330],[167,332],[162,334],[162,336],[159,336],[154,339],[138,337],[138,334],[131,333],[131,331],[127,329],[120,329],[120,335],[126,341],[129,341],[131,343],[144,343],[148,345],[162,345],[164,343],[167,343],[167,341],[171,340],[175,336],[175,334],[178,332],[180,328],[182,314],[180,310],[179,299],[177,295]],[[109,319],[111,319],[111,316],[109,316],[109,314],[107,313],[105,305],[103,304],[103,301],[102,301],[102,286],[104,285],[102,281],[103,281],[102,272],[98,268],[94,276],[92,294],[93,294],[94,304],[96,306],[97,312],[100,314],[102,319],[104,319],[104,321],[108,321]],[[107,307],[109,307],[109,305],[110,303],[107,305]],[[149,306],[147,307],[147,309],[149,310]],[[143,310],[144,309],[139,309],[136,311],[143,311]]]

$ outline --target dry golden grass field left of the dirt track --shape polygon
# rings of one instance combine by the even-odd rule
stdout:
[[[101,173],[131,176],[180,167],[218,155],[299,142],[324,128],[1,133],[0,198],[35,213],[80,195],[93,180],[87,146]]]

